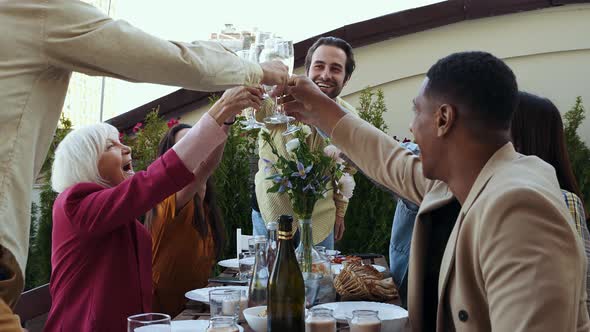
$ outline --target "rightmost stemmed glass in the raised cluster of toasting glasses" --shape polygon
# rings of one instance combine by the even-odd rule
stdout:
[[[260,52],[260,62],[267,62],[278,60],[283,62],[289,68],[289,75],[293,74],[293,66],[295,61],[295,51],[293,48],[293,41],[285,40],[282,38],[269,38],[264,41],[264,49]],[[270,87],[265,87],[267,91]],[[287,130],[283,135],[290,135],[297,130],[299,127],[290,124],[291,121],[295,120],[292,116],[287,116],[284,113],[282,105],[279,105],[278,98],[275,98],[275,109],[271,116],[264,118],[264,122],[269,124],[280,124],[286,123]]]

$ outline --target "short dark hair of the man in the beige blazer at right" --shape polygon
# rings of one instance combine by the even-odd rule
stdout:
[[[518,86],[504,61],[486,52],[453,53],[438,60],[426,76],[425,94],[466,109],[476,125],[510,128]]]

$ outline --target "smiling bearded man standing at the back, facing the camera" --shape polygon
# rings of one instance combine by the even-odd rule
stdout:
[[[330,99],[342,106],[347,112],[356,113],[353,106],[339,97],[346,83],[350,80],[355,69],[352,47],[344,40],[336,37],[322,37],[318,39],[307,51],[305,58],[305,72],[307,77]],[[268,114],[259,111],[256,117],[262,121]],[[293,139],[293,136],[281,135],[285,131],[285,125],[270,125],[267,128],[275,139],[275,145],[279,152],[287,154],[285,143]],[[311,128],[308,144],[314,149],[323,150],[325,147],[325,135],[316,128]],[[266,223],[277,220],[280,215],[294,215],[289,197],[287,195],[268,194],[266,191],[273,185],[264,173],[263,159],[274,160],[270,147],[259,138],[259,171],[255,175],[255,197],[252,207],[252,223],[255,235],[266,234]],[[334,240],[338,241],[344,234],[344,215],[348,201],[340,194],[328,193],[326,198],[316,203],[313,221],[313,242],[334,248]]]

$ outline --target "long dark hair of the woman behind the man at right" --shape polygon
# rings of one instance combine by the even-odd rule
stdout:
[[[519,102],[512,117],[512,142],[516,150],[535,155],[555,168],[559,186],[584,197],[572,170],[565,146],[563,121],[557,107],[547,98],[519,91]],[[590,217],[586,211],[586,218]]]

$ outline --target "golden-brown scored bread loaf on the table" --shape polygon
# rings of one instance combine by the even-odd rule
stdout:
[[[342,300],[390,301],[398,292],[392,278],[383,279],[371,265],[348,262],[334,279],[334,287]]]

